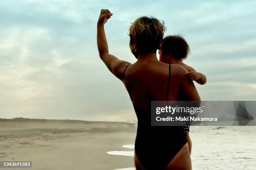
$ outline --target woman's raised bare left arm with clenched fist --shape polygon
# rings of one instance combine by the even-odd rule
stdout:
[[[119,60],[108,52],[108,42],[105,35],[104,25],[112,15],[113,14],[110,13],[109,10],[102,9],[100,11],[100,17],[97,22],[97,46],[101,60],[105,63],[110,72],[123,81],[125,68],[131,63]]]

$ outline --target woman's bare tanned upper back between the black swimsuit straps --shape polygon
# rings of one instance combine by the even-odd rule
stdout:
[[[176,101],[181,80],[186,70],[180,65],[169,65],[154,60],[138,60],[129,65],[125,71],[127,90],[134,105],[150,108],[151,101],[168,100]],[[168,85],[169,82],[169,85]],[[168,89],[169,88],[169,89]]]

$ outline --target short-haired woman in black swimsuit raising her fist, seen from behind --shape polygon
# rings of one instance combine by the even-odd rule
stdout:
[[[180,91],[200,100],[197,90],[180,65],[168,65],[156,57],[165,27],[156,18],[141,17],[130,27],[130,48],[138,59],[131,64],[108,53],[104,24],[112,16],[101,10],[97,23],[100,58],[125,85],[138,118],[135,141],[137,170],[191,170],[186,136],[181,126],[151,126],[151,101],[176,101]]]

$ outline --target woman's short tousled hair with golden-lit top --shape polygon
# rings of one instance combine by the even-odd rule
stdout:
[[[129,29],[130,44],[136,41],[140,53],[155,52],[160,48],[165,30],[164,21],[146,16],[137,18]]]

